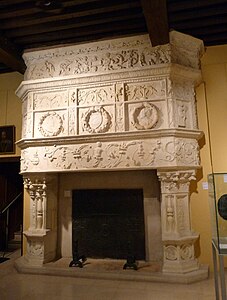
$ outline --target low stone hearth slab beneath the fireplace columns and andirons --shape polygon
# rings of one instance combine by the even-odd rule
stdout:
[[[140,261],[138,270],[123,270],[124,260],[111,259],[88,259],[83,268],[71,267],[71,259],[61,258],[55,262],[47,263],[42,267],[31,267],[27,261],[21,257],[16,260],[15,266],[18,272],[27,274],[42,274],[55,276],[68,276],[77,278],[127,280],[127,281],[148,281],[148,282],[168,282],[168,283],[192,283],[206,279],[208,276],[207,266],[201,266],[195,272],[187,274],[163,274],[158,263],[146,263]]]

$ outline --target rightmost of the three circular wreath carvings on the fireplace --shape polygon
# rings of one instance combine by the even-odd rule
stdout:
[[[138,130],[153,128],[158,122],[158,108],[151,103],[143,103],[132,113],[133,126]]]

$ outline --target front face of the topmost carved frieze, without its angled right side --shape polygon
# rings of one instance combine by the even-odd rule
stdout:
[[[143,39],[143,37],[138,37],[138,40],[141,38]],[[169,45],[151,47],[148,40],[147,45],[142,47],[137,46],[123,50],[120,46],[111,52],[96,50],[96,52],[91,51],[91,53],[87,52],[82,55],[76,54],[79,51],[78,46],[66,48],[70,49],[70,54],[67,50],[63,50],[61,55],[56,55],[55,49],[52,53],[50,50],[43,50],[36,58],[25,54],[24,58],[27,64],[25,78],[28,80],[68,75],[105,74],[171,62]],[[96,46],[95,48],[97,49]]]

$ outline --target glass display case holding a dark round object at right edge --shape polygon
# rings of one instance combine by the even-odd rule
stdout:
[[[212,241],[219,254],[227,254],[227,173],[208,175]]]

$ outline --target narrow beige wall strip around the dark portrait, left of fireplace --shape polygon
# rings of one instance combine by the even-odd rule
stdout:
[[[15,95],[15,90],[23,80],[19,73],[0,74],[0,126],[15,125],[16,141],[21,138],[21,100]],[[16,146],[16,153],[5,156],[20,156],[20,149]]]

